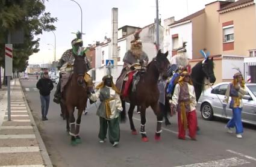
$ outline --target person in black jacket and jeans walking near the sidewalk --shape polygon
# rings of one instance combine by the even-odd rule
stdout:
[[[42,121],[48,120],[46,117],[49,109],[50,93],[54,88],[52,80],[49,78],[48,71],[44,71],[42,78],[40,78],[36,84],[37,89],[39,89],[41,109],[42,109]]]

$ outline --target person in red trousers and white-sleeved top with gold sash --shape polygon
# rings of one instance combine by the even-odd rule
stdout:
[[[196,94],[187,71],[180,74],[170,103],[172,109],[178,111],[178,138],[185,140],[186,129],[189,129],[190,139],[196,140]]]

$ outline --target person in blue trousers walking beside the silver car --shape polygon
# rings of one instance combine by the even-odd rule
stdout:
[[[243,133],[241,113],[243,109],[242,97],[245,94],[247,94],[247,91],[245,90],[245,81],[243,80],[242,73],[235,73],[233,76],[233,82],[229,83],[228,88],[226,89],[226,94],[223,99],[223,110],[226,109],[230,96],[231,102],[229,104],[229,108],[232,109],[233,117],[228,121],[225,129],[228,133],[233,133],[231,128],[236,127],[237,138],[242,138]]]

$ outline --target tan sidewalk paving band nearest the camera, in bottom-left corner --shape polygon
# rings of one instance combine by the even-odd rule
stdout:
[[[5,165],[43,165],[40,152],[0,153],[0,166]]]

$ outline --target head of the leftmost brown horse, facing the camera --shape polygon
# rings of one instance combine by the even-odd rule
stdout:
[[[77,82],[78,85],[82,86],[84,85],[84,74],[87,71],[87,65],[86,65],[86,61],[85,61],[85,56],[76,56],[75,55],[75,61],[73,63],[73,72],[74,74],[76,74],[77,77]]]

